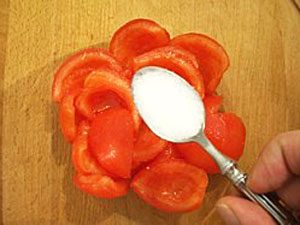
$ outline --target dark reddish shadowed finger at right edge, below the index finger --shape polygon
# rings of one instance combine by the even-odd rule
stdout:
[[[277,193],[289,207],[300,210],[300,178],[288,181]]]

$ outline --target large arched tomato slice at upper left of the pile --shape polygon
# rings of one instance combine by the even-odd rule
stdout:
[[[66,59],[55,73],[53,100],[60,102],[65,94],[81,88],[88,74],[101,69],[116,71],[120,77],[128,76],[128,71],[107,50],[84,49]]]

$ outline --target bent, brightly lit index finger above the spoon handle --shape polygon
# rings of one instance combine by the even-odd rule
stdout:
[[[295,175],[300,175],[300,130],[278,135],[263,149],[248,185],[258,193],[270,192]]]

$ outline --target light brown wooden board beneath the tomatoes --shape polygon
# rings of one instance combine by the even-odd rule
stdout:
[[[219,92],[225,108],[245,121],[246,170],[272,136],[300,127],[300,14],[291,0],[1,0],[0,6],[5,225],[222,224],[213,209],[228,189],[220,177],[211,177],[204,205],[188,214],[158,212],[133,193],[98,200],[72,185],[70,147],[50,96],[53,71],[78,49],[106,46],[133,18],[152,18],[171,35],[206,33],[227,49],[231,67]]]

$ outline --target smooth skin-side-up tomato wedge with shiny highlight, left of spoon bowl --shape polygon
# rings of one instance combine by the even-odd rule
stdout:
[[[105,170],[129,178],[132,167],[134,124],[126,109],[99,113],[91,123],[88,142],[91,152]]]

